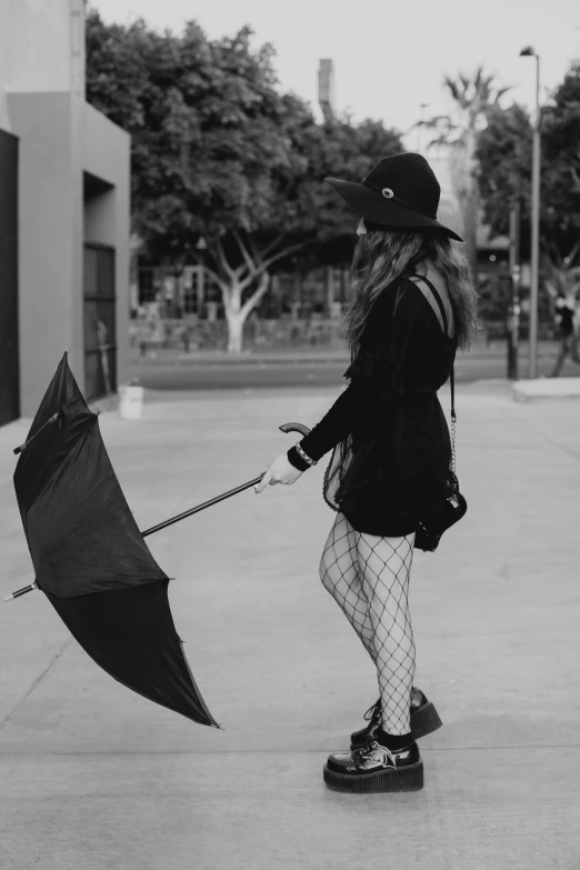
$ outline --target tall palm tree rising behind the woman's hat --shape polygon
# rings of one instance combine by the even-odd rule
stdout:
[[[446,146],[449,150],[451,181],[466,228],[468,258],[477,281],[477,230],[480,213],[474,173],[477,138],[480,130],[487,126],[490,109],[497,106],[511,86],[498,88],[494,76],[484,76],[482,66],[476,70],[472,79],[460,72],[456,79],[446,76],[443,84],[454,102],[452,114],[439,114],[427,121],[419,121],[416,126],[436,131],[437,136],[429,142],[428,150],[434,146]]]

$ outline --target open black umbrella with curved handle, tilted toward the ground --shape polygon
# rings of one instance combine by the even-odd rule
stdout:
[[[284,432],[308,432],[287,423]],[[140,532],[98,426],[68,364],[50,382],[20,458],[14,489],[41,589],[89,656],[151,701],[219,728],[183,654],[168,600],[169,579],[143,538],[258,483],[262,474]]]

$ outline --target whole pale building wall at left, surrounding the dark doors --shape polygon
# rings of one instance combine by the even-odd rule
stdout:
[[[84,0],[0,0],[0,129],[18,137],[20,152],[19,362],[27,417],[69,346],[84,387],[86,237],[116,249],[118,382],[127,377],[130,139],[84,102]],[[87,173],[103,192],[86,202]]]

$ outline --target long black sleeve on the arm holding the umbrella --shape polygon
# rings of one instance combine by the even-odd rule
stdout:
[[[421,291],[413,282],[404,280],[401,286],[404,292],[396,313],[393,308],[399,282],[383,293],[384,299],[379,300],[382,304],[373,308],[371,329],[366,330],[367,341],[343,376],[350,379],[349,387],[322,420],[300,441],[300,447],[311,459],[319,460],[354,428],[360,429],[371,423],[380,410],[379,400],[392,394],[396,380],[404,368],[417,313],[418,298],[409,284],[422,298]],[[393,317],[397,318],[396,324],[392,323]]]

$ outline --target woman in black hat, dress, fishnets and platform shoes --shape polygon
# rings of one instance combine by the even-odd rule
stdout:
[[[320,576],[377,667],[380,699],[351,751],[330,756],[324,780],[341,791],[414,791],[423,784],[416,739],[441,721],[412,687],[409,574],[419,521],[448,494],[451,442],[437,391],[477,328],[477,298],[450,241],[461,238],[437,221],[440,188],[424,158],[386,158],[360,184],[328,181],[360,217],[350,384],[256,491],[294,483],[333,450],[324,499],[337,518]]]

